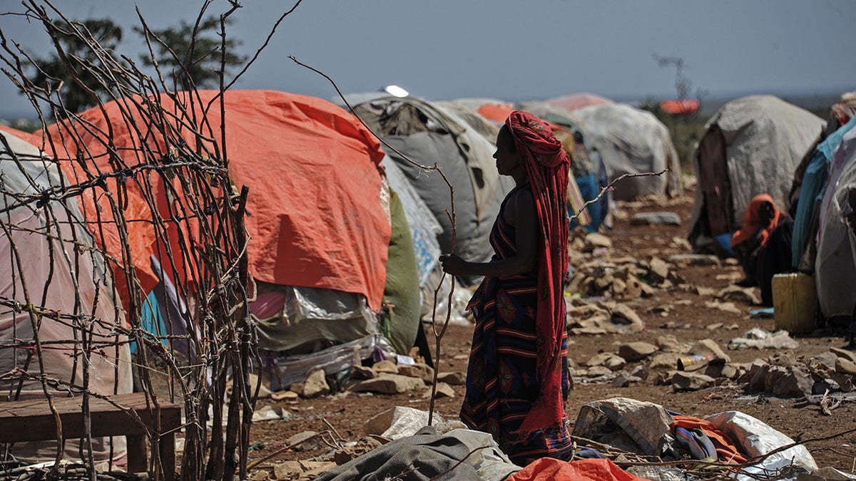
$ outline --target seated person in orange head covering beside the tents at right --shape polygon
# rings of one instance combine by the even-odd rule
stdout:
[[[773,305],[773,276],[793,270],[791,241],[794,220],[780,212],[769,194],[752,198],[743,225],[731,238],[731,249],[740,259],[746,279],[742,287],[761,288],[761,303]]]

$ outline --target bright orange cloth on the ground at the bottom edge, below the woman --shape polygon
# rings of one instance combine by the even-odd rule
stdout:
[[[624,471],[611,460],[563,461],[541,458],[515,472],[507,481],[645,481]]]

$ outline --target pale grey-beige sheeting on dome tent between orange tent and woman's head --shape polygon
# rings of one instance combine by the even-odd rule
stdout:
[[[364,99],[366,95],[357,98]],[[378,93],[372,100],[354,105],[357,114],[384,142],[417,163],[443,169],[455,189],[457,246],[467,260],[486,262],[493,249],[489,235],[499,205],[513,181],[500,177],[493,159],[494,145],[452,110],[419,98],[397,98]],[[384,145],[425,205],[443,227],[439,235],[443,252],[452,250],[449,187],[437,171],[422,169]],[[475,278],[463,279],[474,282]]]

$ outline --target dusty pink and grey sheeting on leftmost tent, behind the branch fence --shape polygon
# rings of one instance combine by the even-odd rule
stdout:
[[[33,376],[7,377],[2,383],[3,391],[14,393],[20,381],[22,398],[44,396],[38,380],[41,363],[45,376],[60,383],[85,387],[99,395],[131,392],[127,338],[115,329],[123,328],[125,319],[121,306],[116,309],[110,272],[100,252],[92,248],[92,235],[80,222],[76,202],[51,199],[40,206],[36,199],[27,202],[15,197],[36,198],[51,188],[68,185],[68,181],[62,179],[56,163],[43,159],[35,146],[11,134],[0,136],[4,140],[0,143],[0,258],[4,259],[0,263],[0,297],[15,300],[21,306],[36,306],[33,318],[27,310],[8,305],[0,309],[0,372],[14,374],[20,369]],[[71,319],[75,316],[83,321]],[[40,359],[31,357],[35,322],[39,323],[38,338],[42,343]],[[80,339],[89,336],[90,330],[81,331],[77,327],[80,325],[91,328],[92,342],[116,343],[116,347],[92,348],[85,356]],[[89,380],[88,385],[82,386],[85,368]],[[16,444],[13,454],[19,459],[52,460],[56,454],[54,445],[55,442]],[[124,438],[114,438],[113,453],[121,454],[124,446]],[[65,453],[78,458],[78,447],[78,442],[66,442]],[[104,439],[93,439],[92,448],[96,459],[103,460],[110,454]]]

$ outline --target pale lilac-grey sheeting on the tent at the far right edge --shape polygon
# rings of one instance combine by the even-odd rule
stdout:
[[[856,128],[835,149],[821,204],[814,279],[823,316],[849,317],[856,305],[856,239],[842,212],[847,193],[856,189]]]

